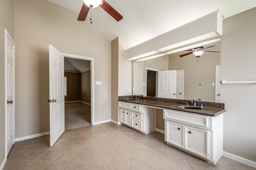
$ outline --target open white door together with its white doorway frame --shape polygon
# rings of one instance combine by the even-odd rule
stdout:
[[[50,147],[65,131],[64,57],[90,61],[91,124],[94,124],[94,58],[60,53],[49,45]]]

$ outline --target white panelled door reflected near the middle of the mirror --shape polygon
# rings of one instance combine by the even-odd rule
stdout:
[[[158,71],[158,98],[176,99],[176,70]]]

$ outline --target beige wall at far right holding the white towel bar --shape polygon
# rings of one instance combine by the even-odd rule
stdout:
[[[256,81],[256,8],[223,20],[220,78]],[[221,84],[225,152],[256,162],[256,84]]]

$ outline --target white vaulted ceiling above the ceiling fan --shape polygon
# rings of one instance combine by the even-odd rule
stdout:
[[[80,12],[83,0],[48,0]],[[124,49],[138,45],[190,21],[219,10],[224,19],[256,7],[256,0],[106,0],[124,18],[114,20],[102,8],[92,10],[95,24],[111,41],[119,37]],[[90,22],[90,14],[86,21]],[[74,18],[76,20],[77,18]]]

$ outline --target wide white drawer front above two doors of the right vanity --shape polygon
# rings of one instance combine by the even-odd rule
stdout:
[[[209,127],[208,116],[190,114],[182,111],[165,110],[166,119],[182,121],[190,125],[198,125],[202,127]]]

